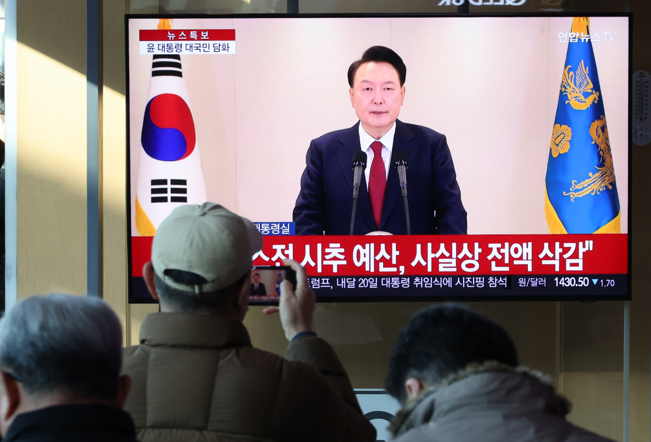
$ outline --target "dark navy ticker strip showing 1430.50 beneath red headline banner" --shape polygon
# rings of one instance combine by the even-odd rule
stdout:
[[[321,300],[326,297],[589,297],[628,294],[628,275],[308,277],[308,284]],[[251,296],[250,298],[253,302],[277,300],[277,296]]]

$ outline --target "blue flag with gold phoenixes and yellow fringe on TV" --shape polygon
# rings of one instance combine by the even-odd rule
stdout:
[[[549,232],[620,233],[615,168],[589,18],[575,17],[545,178]]]

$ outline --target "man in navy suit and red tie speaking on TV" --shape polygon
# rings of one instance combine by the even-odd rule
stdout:
[[[312,140],[294,207],[297,235],[347,235],[355,152],[367,154],[354,234],[406,234],[395,150],[407,152],[411,234],[466,234],[467,220],[445,135],[398,120],[407,68],[400,56],[373,46],[348,68],[350,101],[359,122]]]

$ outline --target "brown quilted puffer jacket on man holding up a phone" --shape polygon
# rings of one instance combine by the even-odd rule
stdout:
[[[241,322],[152,313],[124,350],[125,409],[142,442],[375,441],[333,348],[302,337],[287,359],[251,347]]]

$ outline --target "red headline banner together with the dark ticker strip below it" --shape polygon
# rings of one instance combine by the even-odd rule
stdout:
[[[133,277],[142,276],[151,244],[132,238]],[[284,258],[305,267],[322,299],[628,294],[626,234],[264,236],[253,265]]]

